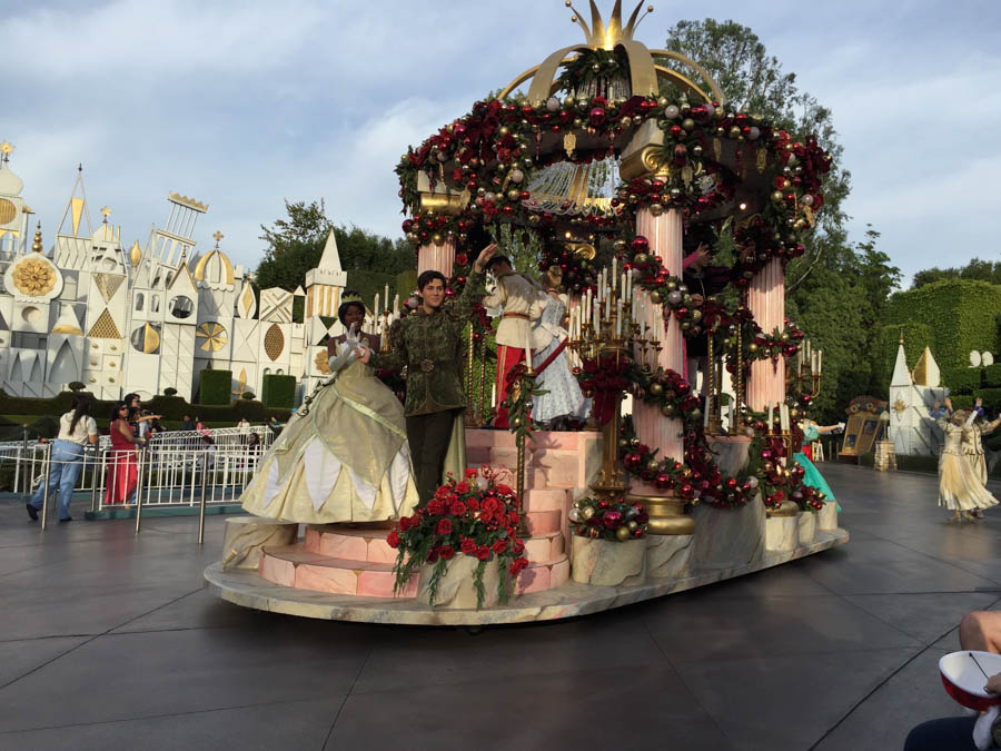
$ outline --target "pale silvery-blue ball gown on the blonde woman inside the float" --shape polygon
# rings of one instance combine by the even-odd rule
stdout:
[[[549,296],[538,322],[532,329],[532,367],[538,373],[539,366],[566,339],[563,317],[566,305]],[[591,399],[584,398],[577,378],[571,372],[566,348],[563,349],[535,381],[536,388],[546,392],[532,403],[532,417],[539,423],[548,423],[558,417],[584,422],[591,412]]]

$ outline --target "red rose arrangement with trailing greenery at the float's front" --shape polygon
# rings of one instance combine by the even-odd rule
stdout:
[[[517,575],[528,566],[523,556],[525,544],[517,538],[521,501],[507,485],[495,482],[490,467],[466,470],[442,485],[427,506],[399,520],[386,542],[398,551],[394,572],[399,592],[417,569],[433,565],[428,590],[435,603],[438,584],[448,562],[456,555],[479,561],[473,573],[477,607],[483,605],[483,574],[487,563],[497,559],[498,599],[507,602]]]

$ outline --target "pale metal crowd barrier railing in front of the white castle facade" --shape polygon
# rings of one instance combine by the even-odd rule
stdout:
[[[201,543],[206,508],[236,503],[265,451],[261,445],[239,443],[199,443],[192,448],[165,446],[156,441],[137,451],[88,447],[80,460],[82,468],[73,492],[89,493],[90,511],[95,513],[135,508],[137,534],[141,530],[143,508],[194,507],[198,504],[198,542]],[[16,461],[14,490],[30,495],[42,478],[50,475],[52,445],[37,444],[27,453],[20,448]],[[47,483],[42,496],[42,530],[47,526],[50,496],[56,493],[58,487]]]

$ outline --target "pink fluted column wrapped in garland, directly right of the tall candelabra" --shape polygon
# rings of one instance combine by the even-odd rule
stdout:
[[[651,255],[663,258],[667,270],[681,276],[683,227],[682,217],[677,210],[671,209],[660,216],[654,216],[648,209],[641,209],[636,217],[636,234],[650,240]],[[665,322],[661,313],[661,305],[652,304],[648,295],[645,293],[643,295],[643,302],[646,303],[647,324],[654,327],[661,346],[663,346],[657,364],[665,369],[681,373],[684,358],[681,327],[673,316]],[[660,448],[661,457],[684,461],[685,449],[680,418],[664,417],[657,407],[635,401],[633,403],[633,424],[636,426],[636,437],[640,438],[640,442],[651,448]],[[640,481],[634,484],[635,491],[651,495],[660,494],[655,487]]]

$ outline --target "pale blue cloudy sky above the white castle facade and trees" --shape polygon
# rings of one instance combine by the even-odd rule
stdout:
[[[586,4],[581,0],[577,6]],[[905,273],[1001,260],[1001,2],[654,0],[637,37],[680,19],[750,26],[802,89],[831,107],[852,172],[853,239],[866,224]],[[599,6],[611,9],[611,0]],[[0,140],[42,221],[58,228],[76,166],[91,217],[112,210],[145,244],[168,190],[210,205],[256,266],[283,199],[324,198],[340,224],[396,237],[393,168],[477,98],[581,41],[562,0],[0,0]]]

